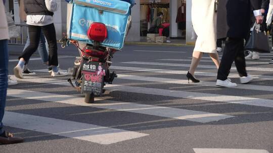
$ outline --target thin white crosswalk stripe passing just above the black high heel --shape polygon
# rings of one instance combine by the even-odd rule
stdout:
[[[142,62],[142,61],[129,61],[122,62],[125,64],[142,64],[142,65],[159,65],[159,66],[179,66],[179,67],[190,67],[191,64],[177,64],[177,63],[162,63],[162,62]],[[213,68],[215,69],[215,65],[198,65],[200,68]],[[236,70],[236,67],[232,67],[231,69]],[[266,67],[246,67],[247,70],[255,70],[255,71],[273,71],[273,68]]]

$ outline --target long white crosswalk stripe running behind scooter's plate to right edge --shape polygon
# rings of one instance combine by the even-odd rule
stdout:
[[[56,82],[57,79],[54,79],[54,78],[37,79],[35,77],[26,77],[26,79],[21,79],[21,80],[34,82],[34,83],[55,84],[54,82]],[[60,82],[57,81],[57,84],[60,84]],[[63,85],[70,86],[65,81]],[[196,92],[185,92],[185,91],[122,86],[122,85],[106,85],[105,89],[117,90],[121,92],[169,96],[169,97],[177,97],[177,98],[189,98],[189,99],[198,99],[198,100],[206,100],[206,101],[214,101],[214,102],[225,102],[225,103],[232,103],[232,104],[244,104],[244,105],[250,105],[250,106],[262,106],[262,107],[273,108],[273,100],[269,100],[269,99],[259,99],[259,98],[250,98],[250,97],[241,97],[241,96],[228,96],[228,95],[218,95],[218,94],[205,94],[205,93],[196,93]]]

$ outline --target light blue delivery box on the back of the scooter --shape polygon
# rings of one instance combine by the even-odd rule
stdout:
[[[102,46],[120,50],[123,47],[130,4],[119,0],[74,0],[68,9],[67,36],[69,39],[93,44],[87,31],[93,22],[106,25],[108,36]]]

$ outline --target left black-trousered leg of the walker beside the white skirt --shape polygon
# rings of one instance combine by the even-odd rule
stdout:
[[[225,42],[222,59],[218,68],[217,80],[225,81],[228,79],[232,63],[241,49],[242,41],[244,40],[240,38],[229,38]]]

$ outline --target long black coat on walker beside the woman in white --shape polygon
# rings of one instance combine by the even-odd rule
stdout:
[[[246,38],[249,35],[252,10],[260,10],[264,0],[219,0],[217,38]]]

